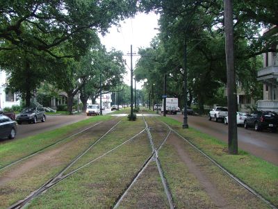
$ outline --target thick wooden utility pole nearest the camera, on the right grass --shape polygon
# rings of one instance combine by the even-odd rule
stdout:
[[[231,0],[224,0],[225,52],[227,66],[228,99],[228,148],[230,154],[238,154],[238,130],[236,124],[236,76],[234,70],[234,23]]]

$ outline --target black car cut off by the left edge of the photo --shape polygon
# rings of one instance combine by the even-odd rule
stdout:
[[[17,124],[6,115],[0,115],[0,138],[8,137],[10,140],[17,134]]]

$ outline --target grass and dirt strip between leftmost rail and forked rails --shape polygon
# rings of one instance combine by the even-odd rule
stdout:
[[[58,174],[117,121],[104,122],[0,172],[0,208],[8,208]]]

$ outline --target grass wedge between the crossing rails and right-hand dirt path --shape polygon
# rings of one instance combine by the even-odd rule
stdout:
[[[163,145],[158,157],[177,208],[212,208],[211,206],[215,206],[169,142]]]

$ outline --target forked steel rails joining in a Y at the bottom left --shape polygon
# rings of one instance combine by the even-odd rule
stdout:
[[[122,122],[122,121],[120,121]],[[117,122],[117,124],[119,124],[120,122]],[[115,124],[115,126],[117,126],[117,124]],[[108,133],[110,133],[115,126],[113,126],[111,129],[109,129],[109,131],[107,131],[104,135],[102,135],[99,140],[101,140],[105,135],[107,135]],[[38,197],[40,194],[42,194],[43,192],[45,192],[47,189],[49,189],[50,187],[56,185],[57,183],[59,183],[60,181],[63,181],[65,178],[72,176],[72,174],[78,172],[80,169],[83,169],[84,167],[87,167],[88,165],[92,164],[92,162],[95,162],[96,160],[99,160],[100,158],[103,158],[104,156],[106,156],[108,153],[111,153],[112,151],[114,151],[115,149],[121,147],[123,144],[126,144],[127,142],[130,142],[131,140],[133,140],[135,137],[137,137],[138,135],[140,135],[141,133],[143,133],[146,130],[146,127],[140,131],[140,133],[137,133],[136,135],[133,135],[133,137],[129,138],[129,140],[126,140],[125,142],[122,142],[122,144],[117,145],[116,147],[114,147],[113,149],[107,151],[106,153],[103,153],[101,156],[95,158],[94,160],[91,160],[90,162],[85,163],[85,165],[82,165],[81,167],[78,167],[76,169],[74,169],[74,171],[66,174],[65,176],[63,176],[63,174],[65,173],[65,171],[70,168],[72,165],[74,165],[74,162],[76,162],[78,159],[80,159],[85,153],[87,153],[95,144],[97,144],[97,142],[99,142],[99,140],[97,140],[96,142],[94,142],[88,149],[86,149],[83,153],[81,153],[79,156],[77,156],[76,158],[74,158],[74,160],[72,160],[70,162],[69,165],[67,165],[67,167],[65,167],[62,172],[59,172],[58,174],[56,174],[56,176],[54,176],[53,178],[49,179],[49,181],[47,181],[47,183],[44,183],[44,185],[42,185],[38,190],[35,190],[33,192],[31,192],[31,194],[28,195],[28,197],[26,197],[23,200],[17,201],[17,203],[13,204],[13,206],[10,206],[9,209],[15,209],[15,208],[22,208],[24,206],[26,206],[26,204],[28,204],[31,200],[33,200],[35,197]]]

